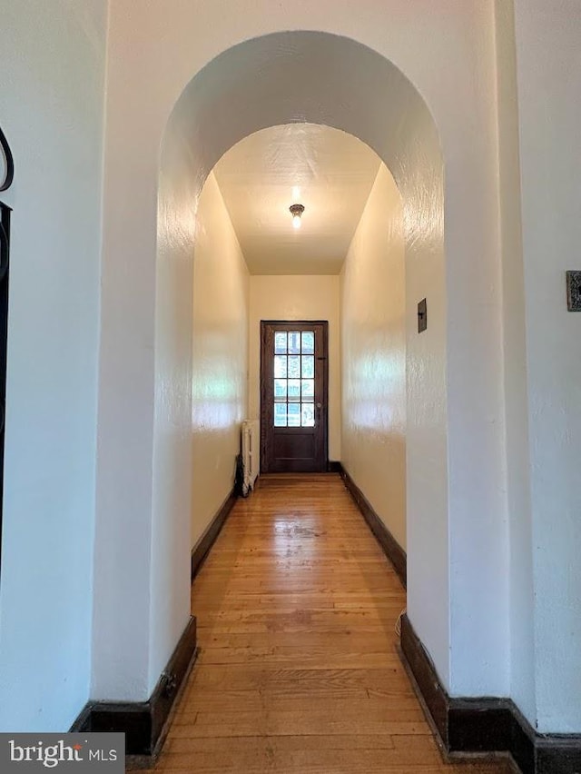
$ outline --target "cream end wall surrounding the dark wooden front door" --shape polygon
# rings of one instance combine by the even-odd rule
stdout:
[[[329,321],[329,459],[341,459],[339,275],[251,276],[249,412],[261,414],[261,320]]]

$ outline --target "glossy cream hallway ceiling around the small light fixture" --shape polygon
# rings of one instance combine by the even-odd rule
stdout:
[[[379,171],[356,137],[316,124],[241,140],[214,174],[251,274],[338,274]],[[295,230],[289,207],[305,206]]]

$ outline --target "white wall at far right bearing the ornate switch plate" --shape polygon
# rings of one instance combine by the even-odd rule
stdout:
[[[581,315],[566,311],[565,272],[581,270],[581,6],[515,9],[537,728],[579,732]]]

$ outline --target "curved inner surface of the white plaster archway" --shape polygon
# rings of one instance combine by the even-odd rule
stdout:
[[[155,389],[162,393],[172,383],[179,398],[165,402],[169,412],[156,417],[154,428],[153,539],[159,557],[153,565],[153,573],[158,573],[153,588],[156,597],[167,600],[169,596],[172,604],[153,604],[158,618],[153,626],[157,632],[153,652],[160,654],[163,663],[189,606],[184,568],[189,567],[191,455],[189,440],[171,439],[166,430],[181,424],[172,422],[172,411],[191,412],[192,257],[202,187],[214,164],[242,138],[270,126],[305,122],[340,129],[369,145],[388,167],[401,194],[408,310],[409,610],[447,681],[447,311],[438,131],[418,90],[389,60],[348,38],[318,32],[266,35],[219,55],[184,89],[164,135]],[[427,289],[430,327],[428,334],[419,335],[415,308]],[[172,488],[162,485],[161,472],[169,469]],[[180,516],[168,523],[167,513]],[[422,594],[428,587],[433,590],[429,599]]]

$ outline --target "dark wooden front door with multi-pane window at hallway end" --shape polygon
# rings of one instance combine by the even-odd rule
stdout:
[[[261,471],[327,470],[326,322],[261,322]]]

